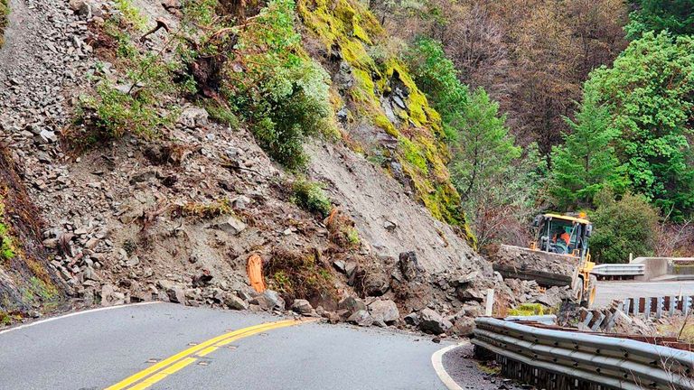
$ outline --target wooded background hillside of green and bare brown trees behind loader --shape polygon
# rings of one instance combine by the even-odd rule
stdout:
[[[694,3],[371,7],[442,113],[455,186],[482,246],[524,244],[519,231],[546,210],[587,211],[598,232],[609,229],[609,204],[648,239],[609,249],[614,240],[598,239],[598,261],[692,254]],[[629,235],[603,237],[612,234]]]

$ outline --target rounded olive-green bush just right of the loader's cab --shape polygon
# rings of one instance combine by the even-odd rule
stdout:
[[[653,255],[659,216],[645,198],[626,193],[614,200],[614,193],[605,189],[597,195],[596,203],[590,251],[597,262],[626,263],[630,253]]]

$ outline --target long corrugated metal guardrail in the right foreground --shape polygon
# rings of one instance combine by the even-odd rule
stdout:
[[[504,374],[546,389],[692,389],[694,353],[633,339],[475,320],[472,343],[502,359]]]

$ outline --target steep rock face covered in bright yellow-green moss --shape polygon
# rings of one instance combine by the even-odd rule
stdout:
[[[344,63],[349,65],[352,82],[340,88],[340,101],[352,110],[352,117],[398,141],[394,152],[384,150],[384,154],[402,166],[417,200],[436,218],[462,228],[474,245],[460,195],[446,168],[450,152],[444,143],[441,116],[429,106],[396,55],[386,54],[377,61],[369,54],[374,45],[389,39],[378,20],[353,0],[299,0],[296,9],[305,26],[323,43],[325,58],[340,62],[339,67],[328,64],[327,68],[342,71]],[[384,108],[384,101],[393,107],[392,112]]]

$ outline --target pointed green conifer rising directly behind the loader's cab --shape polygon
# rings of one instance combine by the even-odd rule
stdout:
[[[590,206],[604,187],[623,192],[628,181],[611,145],[619,132],[610,125],[607,107],[594,90],[586,90],[576,121],[566,118],[572,133],[552,153],[549,192],[560,209]]]

